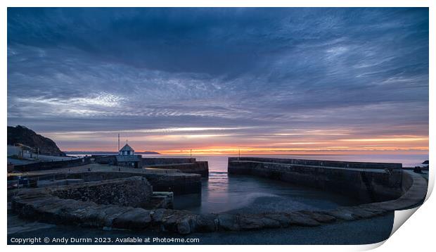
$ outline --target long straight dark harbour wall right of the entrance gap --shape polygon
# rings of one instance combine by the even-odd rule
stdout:
[[[401,164],[276,158],[229,158],[229,174],[255,175],[335,191],[361,203],[404,194]]]

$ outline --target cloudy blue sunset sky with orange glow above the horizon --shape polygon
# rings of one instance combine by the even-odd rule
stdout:
[[[428,8],[8,8],[8,125],[63,151],[428,153]]]

